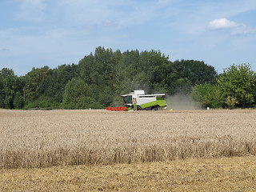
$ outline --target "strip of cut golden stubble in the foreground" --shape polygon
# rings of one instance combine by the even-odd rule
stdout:
[[[256,191],[256,157],[0,170],[0,191]]]

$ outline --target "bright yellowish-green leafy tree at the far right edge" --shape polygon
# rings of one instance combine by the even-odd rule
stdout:
[[[233,98],[243,108],[253,104],[256,90],[256,74],[250,64],[232,65],[218,78],[218,84],[226,98]]]

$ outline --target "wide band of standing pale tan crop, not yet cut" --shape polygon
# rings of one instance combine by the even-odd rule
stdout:
[[[256,154],[256,110],[0,110],[0,168]]]

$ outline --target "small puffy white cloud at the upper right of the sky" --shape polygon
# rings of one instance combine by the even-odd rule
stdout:
[[[209,22],[206,27],[208,30],[225,30],[230,29],[230,34],[254,34],[256,33],[256,28],[246,26],[243,23],[233,22],[226,18],[218,18]]]

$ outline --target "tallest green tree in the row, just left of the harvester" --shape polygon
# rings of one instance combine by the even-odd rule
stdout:
[[[97,47],[94,54],[84,57],[78,63],[78,76],[90,86],[92,98],[103,106],[112,106],[119,90],[118,63],[122,58],[120,50]],[[111,95],[106,94],[111,90]]]

